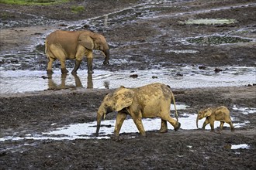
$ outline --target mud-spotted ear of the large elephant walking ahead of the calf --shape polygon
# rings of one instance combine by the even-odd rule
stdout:
[[[134,92],[133,90],[126,89],[121,86],[115,93],[113,98],[115,100],[114,110],[119,111],[125,107],[129,107],[133,103]]]

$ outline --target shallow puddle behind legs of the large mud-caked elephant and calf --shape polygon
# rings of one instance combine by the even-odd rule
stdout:
[[[184,105],[177,106],[178,109],[182,109]],[[171,112],[173,114],[173,111]],[[195,120],[196,120],[197,114],[182,114],[181,117],[179,117],[178,121],[182,124],[181,128],[185,130],[192,130],[197,129]],[[232,120],[234,120],[234,117],[231,117]],[[95,131],[97,122],[89,122],[85,124],[70,124],[67,126],[64,126],[63,128],[57,128],[54,131],[50,132],[43,132],[42,134],[25,134],[24,137],[18,137],[18,136],[6,136],[3,138],[0,138],[0,141],[17,141],[17,140],[24,140],[24,139],[33,139],[33,140],[74,140],[74,139],[90,139],[90,138],[110,138],[110,135],[113,133],[115,128],[116,120],[106,120],[102,121],[101,128],[99,130],[99,137],[95,137]],[[144,118],[143,119],[144,129],[145,131],[156,131],[159,130],[161,127],[161,119],[160,118]],[[202,127],[203,121],[199,121],[199,128]],[[54,124],[56,125],[56,124]],[[228,126],[229,124],[224,124],[224,126]],[[244,126],[245,123],[235,123],[235,128],[240,128]],[[217,128],[220,126],[219,121],[215,121],[214,127]],[[168,129],[173,130],[174,128],[171,126],[171,124],[168,123]],[[209,130],[210,126],[207,125],[206,129]],[[126,119],[123,122],[123,126],[121,128],[120,133],[137,133],[139,132],[137,130],[136,125],[134,124],[132,119]]]

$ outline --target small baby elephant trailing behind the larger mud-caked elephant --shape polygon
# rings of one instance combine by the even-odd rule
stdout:
[[[230,110],[227,107],[208,107],[205,109],[199,110],[199,113],[196,118],[196,127],[198,126],[198,121],[203,117],[206,117],[206,121],[202,125],[202,129],[206,128],[206,125],[209,124],[211,126],[211,131],[214,131],[214,121],[220,121],[220,130],[223,129],[223,124],[226,122],[230,124],[231,131],[234,131],[234,125],[230,119]]]

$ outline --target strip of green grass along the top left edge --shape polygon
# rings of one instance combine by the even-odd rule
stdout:
[[[0,0],[2,4],[12,5],[51,5],[63,2],[69,2],[69,0]]]

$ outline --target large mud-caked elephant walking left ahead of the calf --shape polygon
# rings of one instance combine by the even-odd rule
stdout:
[[[116,126],[114,130],[114,140],[119,140],[119,131],[127,114],[133,118],[140,134],[146,136],[142,117],[161,117],[161,132],[167,132],[167,121],[178,131],[181,124],[178,122],[178,114],[175,105],[175,119],[170,116],[171,100],[175,105],[175,97],[171,92],[171,88],[162,83],[152,83],[144,87],[126,88],[119,87],[113,93],[109,93],[102,100],[102,104],[97,112],[97,130],[99,128],[102,117],[112,111],[118,111],[116,116]]]

